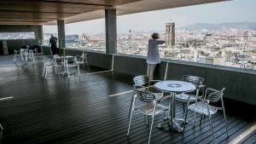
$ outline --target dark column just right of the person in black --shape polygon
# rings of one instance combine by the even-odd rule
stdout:
[[[64,20],[57,20],[59,48],[66,48],[65,23]]]

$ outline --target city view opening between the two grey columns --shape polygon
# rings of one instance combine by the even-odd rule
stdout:
[[[66,24],[65,31],[67,48],[106,51],[105,19]]]

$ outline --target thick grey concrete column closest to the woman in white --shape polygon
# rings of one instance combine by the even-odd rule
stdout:
[[[116,9],[105,9],[106,53],[116,54]]]

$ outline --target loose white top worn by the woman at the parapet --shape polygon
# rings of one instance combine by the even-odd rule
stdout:
[[[148,40],[148,55],[147,55],[147,63],[148,64],[159,64],[160,63],[160,54],[158,45],[165,43],[165,41],[157,40],[157,39],[149,39]]]

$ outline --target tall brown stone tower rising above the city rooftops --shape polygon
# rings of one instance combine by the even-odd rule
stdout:
[[[175,23],[170,20],[166,23],[166,47],[174,46],[175,44]]]

